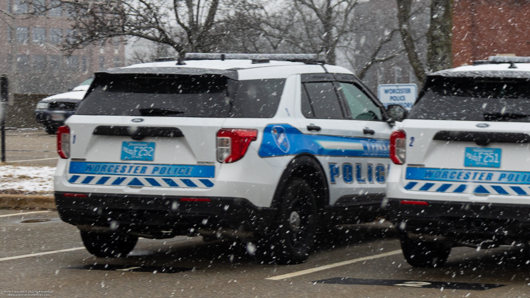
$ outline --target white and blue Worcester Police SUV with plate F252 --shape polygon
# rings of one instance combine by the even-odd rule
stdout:
[[[291,264],[318,227],[372,220],[392,119],[315,58],[188,54],[96,73],[58,130],[61,218],[96,256],[126,255],[138,236],[230,236]]]

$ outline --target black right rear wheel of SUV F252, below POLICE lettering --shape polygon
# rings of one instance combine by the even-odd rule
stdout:
[[[302,178],[289,179],[282,190],[275,224],[258,243],[257,257],[275,264],[307,260],[317,229],[315,195]]]

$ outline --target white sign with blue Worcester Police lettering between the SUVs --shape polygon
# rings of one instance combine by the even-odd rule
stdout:
[[[377,98],[384,104],[401,104],[410,111],[418,97],[418,86],[416,84],[384,84],[377,86]]]

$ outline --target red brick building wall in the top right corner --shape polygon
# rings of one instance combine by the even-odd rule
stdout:
[[[530,56],[530,1],[454,0],[453,66],[488,56]]]

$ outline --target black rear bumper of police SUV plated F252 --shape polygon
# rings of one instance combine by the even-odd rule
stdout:
[[[162,231],[183,235],[219,228],[262,232],[276,216],[275,208],[257,207],[243,198],[182,201],[181,196],[90,194],[80,198],[63,194],[55,192],[56,204],[61,220],[69,224],[119,226],[150,235]]]

